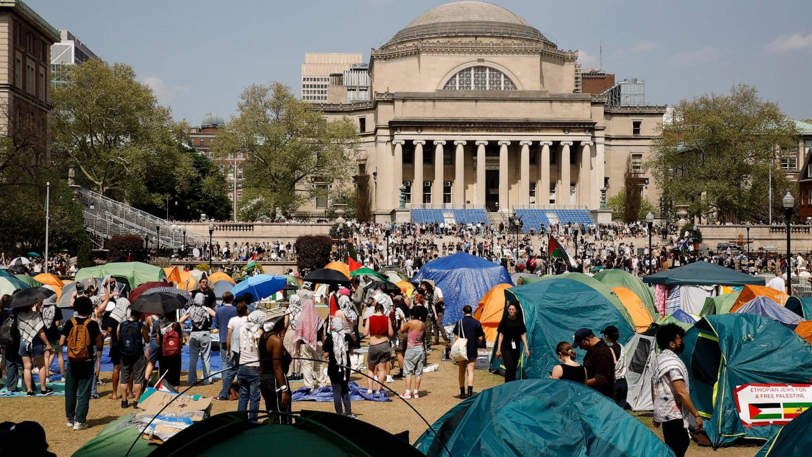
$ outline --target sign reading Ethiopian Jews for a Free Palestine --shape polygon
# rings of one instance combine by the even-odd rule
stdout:
[[[745,427],[784,425],[812,407],[810,384],[745,384],[733,395]]]

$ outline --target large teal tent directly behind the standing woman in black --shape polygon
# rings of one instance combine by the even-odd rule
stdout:
[[[634,326],[606,297],[571,277],[554,277],[519,285],[505,289],[504,293],[505,303],[519,303],[520,317],[527,327],[530,357],[525,359],[524,350],[520,350],[519,372],[516,374],[519,379],[550,376],[553,366],[559,363],[555,346],[559,342],[572,342],[577,329],[588,328],[598,334],[607,325],[615,325],[620,330],[621,343],[628,342],[635,333]],[[503,319],[507,316],[508,307],[505,307]],[[490,355],[491,371],[501,367],[496,350],[494,347]],[[576,352],[578,359],[582,360],[584,351]]]

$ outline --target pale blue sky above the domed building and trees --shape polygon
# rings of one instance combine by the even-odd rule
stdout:
[[[305,52],[385,43],[434,0],[26,0],[102,59],[129,63],[175,118],[228,118],[245,86],[298,94]],[[673,103],[744,82],[795,118],[812,117],[812,0],[504,0],[584,67],[646,81],[646,102]],[[581,11],[577,11],[580,8]]]

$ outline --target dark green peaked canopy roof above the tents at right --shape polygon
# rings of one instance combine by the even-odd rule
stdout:
[[[643,276],[646,284],[666,285],[764,285],[764,278],[736,272],[710,262],[694,262],[680,268],[672,268],[649,276]]]

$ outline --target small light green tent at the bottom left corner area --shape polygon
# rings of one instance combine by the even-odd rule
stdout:
[[[73,455],[76,457],[110,457],[110,455],[125,455],[132,446],[130,457],[146,457],[153,450],[158,449],[158,445],[150,444],[147,440],[139,437],[140,431],[134,426],[124,426],[127,420],[132,419],[134,414],[120,417],[102,429],[95,437],[85,442]],[[119,429],[119,427],[122,427]]]

